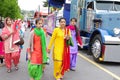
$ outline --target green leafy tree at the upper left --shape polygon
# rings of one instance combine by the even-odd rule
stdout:
[[[0,16],[11,17],[12,19],[21,18],[18,0],[0,0]]]

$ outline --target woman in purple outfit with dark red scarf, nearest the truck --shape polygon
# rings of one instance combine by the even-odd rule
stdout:
[[[75,71],[75,67],[76,67],[78,43],[80,44],[81,47],[83,45],[82,39],[79,35],[79,31],[76,27],[76,22],[77,22],[77,19],[72,18],[70,20],[70,25],[68,26],[68,28],[71,30],[71,36],[72,36],[72,40],[74,43],[74,46],[70,46],[70,70],[72,70],[72,71]]]

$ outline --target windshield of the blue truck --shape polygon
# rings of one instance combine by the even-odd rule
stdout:
[[[109,10],[109,11],[120,11],[120,2],[117,1],[97,1],[96,9],[98,10]]]

